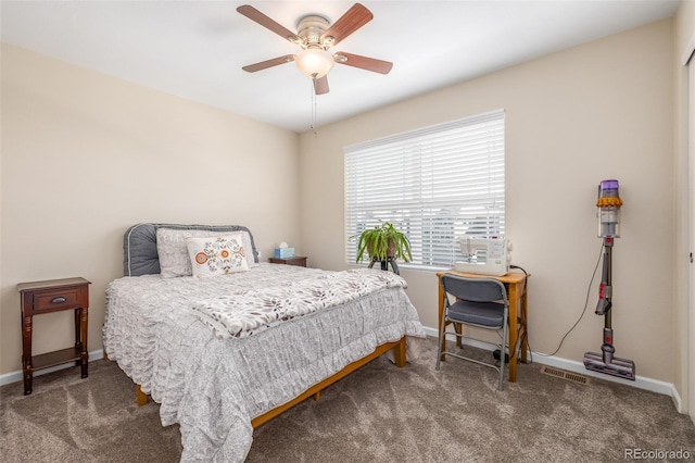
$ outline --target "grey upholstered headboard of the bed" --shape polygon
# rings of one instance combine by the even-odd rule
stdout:
[[[156,252],[157,228],[179,230],[248,232],[253,248],[253,260],[258,262],[258,251],[251,230],[241,225],[180,225],[180,224],[137,224],[127,229],[123,237],[123,275],[140,276],[161,273],[160,256]]]

